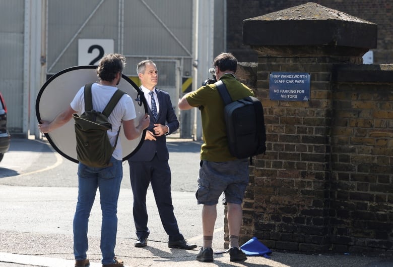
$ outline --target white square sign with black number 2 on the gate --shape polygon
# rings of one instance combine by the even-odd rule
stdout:
[[[78,65],[98,65],[104,54],[113,53],[113,39],[79,39]]]

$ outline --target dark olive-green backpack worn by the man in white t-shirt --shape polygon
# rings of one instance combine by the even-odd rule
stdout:
[[[110,157],[116,147],[120,133],[119,127],[113,147],[106,133],[107,130],[112,129],[108,117],[125,92],[117,89],[101,113],[93,110],[91,86],[91,83],[85,85],[85,112],[81,116],[76,113],[73,114],[77,156],[79,162],[89,167],[105,168],[111,166],[109,164]]]

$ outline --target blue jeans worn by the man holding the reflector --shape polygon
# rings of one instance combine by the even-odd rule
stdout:
[[[117,200],[123,169],[121,161],[114,157],[111,157],[110,162],[113,166],[107,168],[93,168],[81,163],[78,166],[78,203],[73,223],[74,256],[77,260],[87,258],[89,216],[98,188],[102,211],[102,264],[113,262],[117,232]]]

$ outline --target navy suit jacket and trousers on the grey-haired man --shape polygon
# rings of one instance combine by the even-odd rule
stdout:
[[[168,125],[169,133],[179,128],[170,96],[167,92],[156,88],[159,102],[157,121],[154,121],[150,108],[150,125],[147,128],[154,132],[154,124]],[[161,223],[169,236],[169,241],[182,239],[177,221],[173,213],[171,195],[171,170],[169,168],[169,153],[166,146],[166,136],[156,137],[156,141],[144,140],[141,148],[128,159],[131,187],[134,194],[133,215],[138,237],[149,236],[148,213],[146,209],[146,193],[151,184],[156,200]]]

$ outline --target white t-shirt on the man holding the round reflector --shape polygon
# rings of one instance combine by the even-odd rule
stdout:
[[[80,114],[85,112],[85,86],[83,86],[74,99],[71,102],[71,108]],[[110,98],[117,90],[116,87],[100,85],[97,83],[93,83],[91,87],[91,94],[93,100],[93,110],[102,112],[105,109],[105,106],[108,104]],[[115,108],[112,113],[108,117],[108,121],[112,124],[112,130],[108,130],[109,141],[112,145],[116,141],[116,135],[121,125],[121,121],[129,121],[133,120],[137,117],[135,112],[135,106],[133,99],[128,95],[124,94],[120,100],[117,102]],[[113,157],[117,160],[121,161],[123,158],[120,137],[117,140],[117,145],[115,150],[113,151]]]

